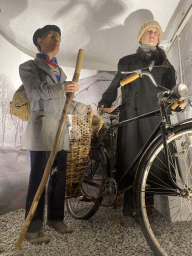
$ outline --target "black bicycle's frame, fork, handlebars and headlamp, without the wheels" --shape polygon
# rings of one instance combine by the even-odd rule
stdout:
[[[168,117],[167,117],[167,113],[165,111],[165,102],[170,102],[167,101],[167,99],[165,99],[165,94],[167,93],[169,95],[172,95],[170,97],[170,99],[177,99],[178,97],[186,97],[188,95],[188,89],[186,86],[183,86],[182,84],[179,85],[177,87],[177,90],[180,91],[180,93],[173,93],[172,91],[168,90],[167,88],[160,86],[156,83],[154,77],[147,71],[141,71],[141,70],[136,70],[134,72],[122,72],[122,73],[132,73],[131,76],[126,77],[125,79],[120,81],[120,85],[124,86],[125,84],[128,84],[132,81],[134,81],[135,79],[137,79],[138,77],[142,77],[143,75],[148,76],[153,85],[155,87],[157,87],[158,89],[160,89],[161,91],[163,91],[163,93],[158,93],[158,104],[159,104],[159,110],[150,112],[150,113],[146,113],[140,116],[137,116],[135,118],[131,118],[125,121],[122,121],[118,124],[112,124],[112,120],[113,118],[110,118],[111,120],[111,124],[108,128],[109,132],[110,132],[110,160],[109,160],[109,165],[110,165],[110,176],[114,178],[114,167],[115,167],[115,152],[114,152],[114,138],[113,138],[113,133],[114,133],[114,129],[115,128],[121,128],[122,126],[128,125],[130,122],[135,122],[139,119],[143,119],[143,118],[147,118],[147,117],[151,117],[154,116],[155,114],[161,114],[161,122],[158,124],[158,126],[156,127],[156,129],[153,131],[153,133],[151,134],[151,136],[149,137],[149,139],[147,140],[147,142],[144,144],[144,146],[142,147],[142,149],[140,150],[140,152],[138,153],[138,155],[135,157],[135,159],[133,160],[132,164],[130,165],[130,167],[126,170],[126,172],[124,173],[124,175],[121,177],[120,181],[118,182],[117,186],[120,184],[120,182],[122,182],[123,179],[125,179],[126,175],[133,169],[133,167],[139,162],[139,159],[142,157],[142,155],[144,154],[144,152],[147,150],[148,146],[150,145],[150,143],[152,143],[152,141],[157,137],[158,133],[160,133],[161,137],[162,137],[162,141],[163,141],[163,146],[164,146],[164,150],[165,150],[165,165],[167,167],[168,170],[168,177],[170,180],[170,183],[179,191],[181,190],[178,185],[175,183],[175,181],[172,178],[172,174],[171,174],[171,168],[170,168],[170,164],[169,164],[169,154],[168,154],[168,148],[167,148],[167,141],[166,141],[166,136],[168,134],[170,134],[169,128],[171,127],[171,125],[169,124],[168,121]],[[164,94],[165,93],[165,94]],[[176,96],[176,98],[175,98]],[[166,96],[167,97],[167,96]],[[171,108],[174,110],[179,103],[175,102],[175,100],[171,103],[174,103]],[[105,134],[104,134],[105,136]],[[103,138],[104,138],[103,136]],[[130,189],[130,186],[123,189],[122,192],[125,192],[126,190]]]

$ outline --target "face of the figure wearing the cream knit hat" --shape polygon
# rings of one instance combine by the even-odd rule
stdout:
[[[159,30],[156,27],[150,27],[145,30],[140,39],[141,45],[156,46],[159,42]]]

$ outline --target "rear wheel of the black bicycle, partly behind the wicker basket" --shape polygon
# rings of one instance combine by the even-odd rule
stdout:
[[[89,219],[99,209],[107,173],[107,158],[103,147],[90,147],[87,169],[82,183],[82,196],[66,200],[68,212],[76,219]]]

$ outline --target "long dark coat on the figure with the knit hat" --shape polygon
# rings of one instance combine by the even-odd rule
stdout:
[[[108,89],[102,95],[98,107],[111,107],[111,103],[116,100],[117,88],[120,86],[119,82],[129,76],[129,74],[122,74],[121,71],[144,69],[153,75],[158,85],[171,89],[176,84],[175,70],[168,61],[167,68],[160,66],[163,62],[164,58],[162,55],[156,57],[155,67],[150,71],[151,59],[147,59],[140,53],[128,55],[120,59],[118,72]],[[151,112],[158,108],[158,90],[147,76],[138,78],[121,87],[121,92],[122,106],[120,121]],[[119,128],[116,164],[118,176],[121,176],[128,169],[160,120],[160,116],[149,117]],[[127,185],[128,183],[132,184],[134,173],[135,171],[126,178]]]

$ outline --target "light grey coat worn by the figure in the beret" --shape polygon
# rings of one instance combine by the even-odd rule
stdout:
[[[36,62],[36,64],[35,64]],[[29,60],[19,66],[19,73],[28,97],[31,115],[27,124],[23,149],[51,151],[66,101],[64,85],[66,75],[60,70],[57,81],[50,66],[41,58]],[[72,101],[69,114],[86,114],[87,105]],[[64,127],[58,151],[69,149],[69,121]]]

